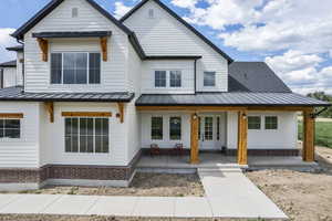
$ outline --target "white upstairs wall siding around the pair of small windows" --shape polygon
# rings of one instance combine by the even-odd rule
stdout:
[[[155,71],[166,71],[166,87],[155,87]],[[170,87],[169,71],[181,72],[181,86]],[[143,94],[194,94],[194,61],[145,61],[142,71]]]

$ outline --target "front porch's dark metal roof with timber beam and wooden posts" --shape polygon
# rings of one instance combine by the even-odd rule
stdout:
[[[138,112],[175,112],[186,113],[189,117],[187,124],[189,124],[189,134],[187,133],[188,147],[190,155],[188,158],[183,158],[181,161],[186,161],[191,165],[204,164],[237,164],[240,166],[247,166],[255,158],[248,159],[248,115],[252,113],[302,113],[303,114],[303,147],[302,147],[302,160],[303,162],[314,162],[314,118],[315,106],[325,106],[325,103],[311,99],[301,95],[292,93],[201,93],[195,95],[142,95],[136,101],[136,108]],[[236,125],[236,130],[227,131],[236,136],[235,150],[236,157],[226,156],[209,156],[203,155],[201,139],[200,139],[200,116],[206,113],[231,113],[237,116],[232,123]],[[235,123],[235,120],[237,120]],[[297,125],[297,119],[290,119],[293,125]],[[280,128],[286,130],[287,128]],[[274,131],[269,134],[273,137]],[[287,133],[287,131],[286,131]],[[295,133],[297,134],[297,133]],[[279,136],[278,139],[283,139]],[[297,135],[293,136],[292,148],[297,147]],[[267,140],[267,139],[266,139]],[[259,143],[259,140],[258,140]],[[249,149],[250,150],[250,149]],[[272,156],[273,157],[273,156]],[[271,156],[270,158],[271,159]],[[281,158],[276,158],[280,161]],[[290,158],[289,158],[290,159]],[[299,161],[300,158],[293,158],[292,160]],[[164,159],[166,160],[166,159]],[[168,158],[167,162],[176,164],[178,159]],[[215,160],[215,161],[214,161]],[[266,161],[267,159],[262,159]],[[144,159],[143,159],[144,161]],[[287,159],[281,160],[283,162]]]

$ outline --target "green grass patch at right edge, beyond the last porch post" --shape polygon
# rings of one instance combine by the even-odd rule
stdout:
[[[302,140],[303,124],[299,120],[299,139]],[[332,148],[332,123],[317,122],[315,123],[315,145]]]

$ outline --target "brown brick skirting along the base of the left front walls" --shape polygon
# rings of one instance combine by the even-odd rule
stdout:
[[[48,179],[131,180],[141,157],[136,154],[126,167],[46,165],[38,169],[0,169],[0,183],[42,183]]]

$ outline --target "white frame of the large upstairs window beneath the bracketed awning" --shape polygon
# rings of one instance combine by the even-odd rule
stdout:
[[[64,64],[64,56],[63,56],[63,54],[80,54],[80,53],[86,53],[87,54],[87,62],[86,62],[86,84],[64,84],[63,83],[63,64]],[[89,81],[89,76],[90,76],[90,53],[97,53],[97,54],[100,54],[101,55],[101,63],[100,63],[100,67],[101,67],[101,76],[100,76],[100,83],[90,83],[90,81]],[[51,61],[51,56],[52,56],[52,54],[62,54],[61,55],[61,62],[62,62],[62,64],[61,64],[61,83],[59,83],[59,84],[54,84],[54,83],[52,83],[52,61]],[[52,51],[52,52],[50,52],[50,66],[49,66],[49,70],[50,70],[50,78],[49,78],[49,83],[50,83],[50,85],[51,86],[75,86],[75,85],[80,85],[80,86],[85,86],[85,85],[89,85],[89,86],[100,86],[100,85],[102,85],[102,64],[103,64],[103,62],[102,62],[102,53],[100,52],[100,51]]]

